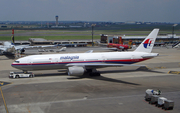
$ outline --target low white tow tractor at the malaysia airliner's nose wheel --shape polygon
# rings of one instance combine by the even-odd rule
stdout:
[[[24,78],[24,77],[29,77],[32,78],[34,77],[34,74],[32,72],[28,73],[23,73],[23,72],[10,72],[9,78]]]

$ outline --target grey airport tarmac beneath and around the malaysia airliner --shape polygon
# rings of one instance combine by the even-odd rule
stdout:
[[[69,48],[62,53],[90,49],[98,51]],[[146,68],[102,68],[98,69],[101,76],[84,78],[47,70],[33,71],[34,78],[9,79],[10,71],[19,70],[11,67],[13,59],[0,56],[0,82],[11,83],[1,87],[0,113],[6,113],[6,105],[9,113],[179,113],[180,74],[168,72],[180,71],[180,50],[154,47],[153,52],[160,55],[137,63]],[[174,109],[165,111],[148,104],[144,100],[146,89],[160,89],[161,96],[175,102]]]

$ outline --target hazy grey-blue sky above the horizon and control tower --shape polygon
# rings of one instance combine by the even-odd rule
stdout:
[[[0,0],[0,21],[180,22],[180,0]]]

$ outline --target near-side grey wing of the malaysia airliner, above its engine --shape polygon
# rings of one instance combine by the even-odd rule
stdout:
[[[122,67],[122,66],[144,66],[144,65],[132,65],[132,64],[113,64],[113,63],[70,63],[66,65],[67,67],[71,66],[81,66],[81,67]]]

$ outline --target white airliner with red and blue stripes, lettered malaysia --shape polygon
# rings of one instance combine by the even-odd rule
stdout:
[[[23,70],[67,69],[68,75],[81,76],[85,72],[100,75],[96,68],[116,66],[137,66],[133,63],[156,57],[151,53],[159,29],[154,29],[146,39],[132,52],[99,52],[32,55],[17,59],[12,67]]]

